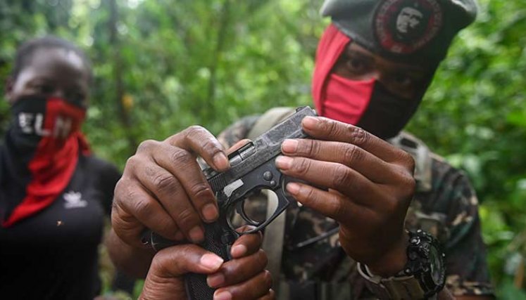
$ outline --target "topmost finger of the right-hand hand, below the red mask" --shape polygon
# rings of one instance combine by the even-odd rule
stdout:
[[[395,148],[358,126],[325,117],[305,117],[301,124],[306,133],[313,138],[357,145],[384,160],[384,162],[398,162],[407,155],[403,150]]]

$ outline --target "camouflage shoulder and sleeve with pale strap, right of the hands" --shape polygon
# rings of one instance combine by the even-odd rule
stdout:
[[[413,155],[417,185],[422,180],[426,183],[423,189],[418,186],[406,227],[426,230],[442,242],[448,266],[446,285],[455,296],[493,296],[478,199],[468,176],[408,133],[393,145]]]

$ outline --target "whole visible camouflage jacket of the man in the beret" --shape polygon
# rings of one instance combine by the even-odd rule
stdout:
[[[228,148],[247,138],[258,118],[245,117],[232,124],[220,133],[219,141]],[[391,143],[410,152],[417,165],[417,193],[408,210],[406,228],[421,228],[442,242],[446,286],[454,295],[493,295],[477,196],[468,178],[407,133]],[[250,214],[265,214],[261,202],[250,201],[246,209],[254,210]],[[289,206],[278,299],[375,299],[358,274],[356,262],[340,247],[334,230],[337,226],[334,220],[296,202]],[[316,241],[320,236],[325,237]],[[282,295],[283,282],[287,282],[287,296]]]

